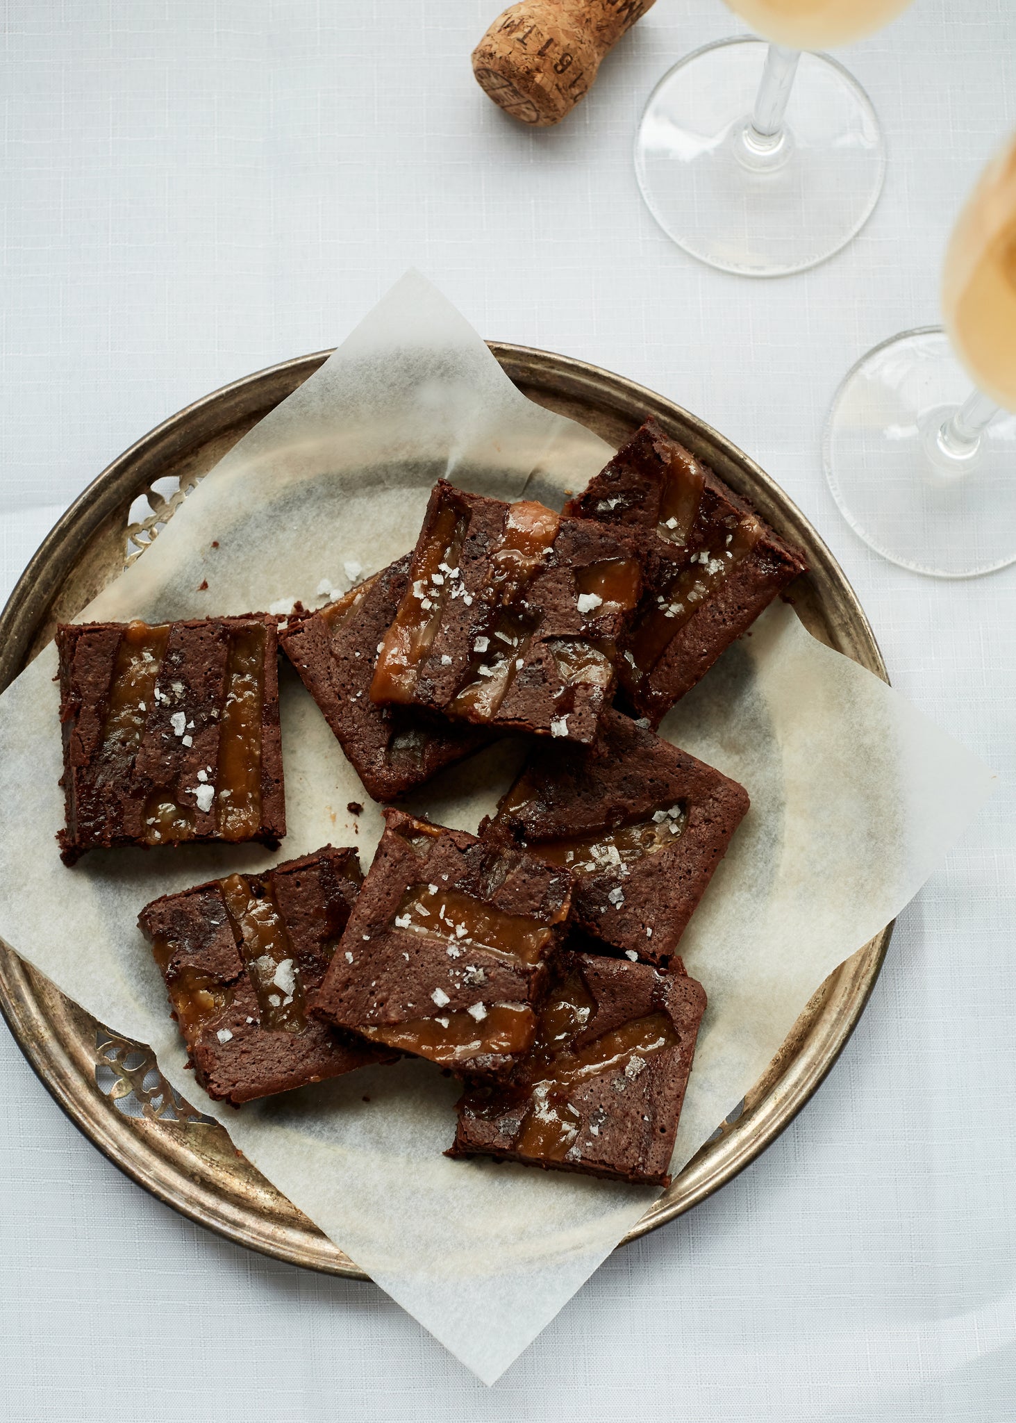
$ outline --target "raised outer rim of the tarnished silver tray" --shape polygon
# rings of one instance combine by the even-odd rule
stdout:
[[[677,423],[686,427],[686,431],[694,431],[699,444],[721,451],[727,461],[750,475],[754,484],[758,484],[781,505],[790,521],[807,536],[813,548],[818,549],[824,576],[832,585],[838,585],[838,592],[850,609],[854,636],[865,653],[862,665],[888,683],[885,663],[871,623],[838,562],[811,522],[750,455],[676,401],[603,367],[538,347],[505,342],[488,342],[487,344],[508,377],[521,388],[529,386],[538,390],[542,383],[545,388],[561,396],[563,383],[568,387],[566,394],[581,398],[583,393],[591,396],[596,391],[606,391],[615,401],[619,391],[623,391],[628,401],[637,406],[642,418],[655,414],[665,424]],[[293,379],[293,388],[296,388],[330,354],[330,350],[322,350],[297,356],[209,391],[144,434],[78,494],[26,565],[3,612],[0,612],[0,690],[4,690],[30,660],[33,638],[57,598],[67,569],[77,568],[83,552],[94,542],[102,525],[122,508],[125,497],[128,494],[131,498],[137,497],[145,482],[139,478],[138,471],[144,471],[147,464],[152,460],[158,461],[161,454],[168,453],[175,434],[189,430],[195,423],[201,424],[202,417],[221,407],[228,407],[231,397],[249,394],[253,398],[260,386],[285,383],[286,379]],[[285,398],[285,396],[279,398]],[[147,482],[151,484],[158,477],[158,468],[154,468],[147,474]],[[709,1168],[709,1158],[714,1155],[710,1153],[714,1141],[710,1140],[674,1178],[684,1184],[680,1198],[667,1201],[666,1194],[660,1197],[625,1235],[620,1245],[657,1229],[713,1195],[767,1150],[790,1126],[825,1080],[859,1022],[885,961],[892,928],[892,924],[887,925],[869,943],[841,963],[815,992],[780,1053],[751,1089],[748,1094],[753,1097],[751,1110],[746,1110],[739,1120],[729,1120],[721,1127],[726,1160],[720,1170]],[[188,1195],[172,1190],[162,1177],[152,1175],[151,1163],[147,1158],[152,1154],[154,1147],[148,1137],[149,1131],[158,1128],[147,1121],[142,1124],[139,1118],[127,1118],[129,1128],[124,1130],[127,1126],[124,1116],[98,1089],[95,1089],[94,1100],[84,1100],[80,1093],[73,1090],[77,1064],[67,1047],[46,1030],[47,1019],[36,980],[38,985],[48,985],[44,975],[24,963],[13,948],[0,941],[0,1012],[3,1012],[11,1036],[64,1114],[118,1170],[185,1218],[194,1220],[233,1244],[303,1268],[349,1279],[369,1279],[326,1237],[322,1239],[332,1252],[326,1252],[327,1258],[322,1257],[320,1252],[309,1254],[306,1241],[303,1241],[306,1232],[302,1234],[295,1228],[276,1224],[275,1228],[265,1229],[260,1235],[252,1234],[250,1207],[246,1211],[233,1207],[232,1202],[223,1200],[222,1192],[215,1192],[213,1187],[201,1190],[201,1181],[192,1183],[199,1188],[195,1200],[194,1190]],[[58,993],[58,989],[53,988],[53,990]],[[837,995],[842,998],[844,993],[848,998],[848,1010],[832,1012],[831,1005],[835,1007]],[[800,1025],[805,1022],[807,1032],[801,1030],[804,1036],[800,1037]],[[810,1035],[814,1036],[817,1027],[820,1030],[817,1046],[821,1050],[793,1056],[788,1044],[798,1040],[795,1035],[804,1042]],[[768,1104],[768,1111],[760,1130],[754,1117],[757,1109],[764,1104]],[[117,1131],[115,1124],[120,1123],[124,1126]],[[162,1124],[162,1128],[165,1126]],[[209,1190],[215,1200],[213,1207],[211,1201],[203,1200]]]

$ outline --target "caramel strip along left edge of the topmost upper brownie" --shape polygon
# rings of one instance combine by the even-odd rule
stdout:
[[[370,683],[373,702],[411,702],[417,667],[441,622],[441,610],[461,588],[460,552],[470,525],[461,505],[447,501],[435,511],[427,541],[410,568],[410,586],[377,655]]]

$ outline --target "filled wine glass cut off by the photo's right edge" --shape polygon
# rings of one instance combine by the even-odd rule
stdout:
[[[1016,138],[953,228],[942,309],[948,334],[894,336],[850,371],[825,423],[825,475],[884,558],[976,578],[1016,562]]]

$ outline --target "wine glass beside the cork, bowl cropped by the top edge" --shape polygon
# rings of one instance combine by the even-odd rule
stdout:
[[[811,51],[888,24],[911,0],[726,3],[770,43],[720,40],[663,75],[635,144],[642,196],[709,266],[804,272],[861,231],[885,176],[868,95]]]

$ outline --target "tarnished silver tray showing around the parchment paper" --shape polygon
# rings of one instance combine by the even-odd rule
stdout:
[[[582,361],[491,343],[532,400],[620,445],[649,416],[801,545],[811,572],[794,585],[808,629],[888,680],[878,645],[835,559],[754,461],[702,420],[640,386]],[[248,376],[166,420],[88,485],[46,538],[0,616],[0,689],[125,564],[144,552],[186,491],[327,357],[303,356]],[[166,497],[152,490],[175,481]],[[54,851],[55,852],[55,851]],[[626,1239],[656,1229],[758,1155],[801,1110],[837,1060],[878,978],[889,925],[822,983],[773,1063]],[[107,1032],[0,943],[0,1007],[26,1057],[71,1120],[122,1171],[211,1229],[312,1269],[366,1276],[233,1148],[225,1130],[174,1096],[148,1049]]]

